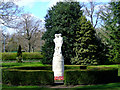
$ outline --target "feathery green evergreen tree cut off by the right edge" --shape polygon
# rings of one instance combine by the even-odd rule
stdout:
[[[105,35],[101,36],[109,46],[109,61],[120,63],[120,1],[110,2],[105,8],[107,13],[101,15]]]

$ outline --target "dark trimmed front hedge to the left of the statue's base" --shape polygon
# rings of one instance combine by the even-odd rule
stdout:
[[[52,85],[54,74],[48,70],[18,70],[2,71],[2,83],[9,85]]]

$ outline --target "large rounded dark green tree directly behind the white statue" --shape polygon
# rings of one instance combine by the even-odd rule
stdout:
[[[64,9],[63,9],[64,8]],[[79,2],[58,2],[48,10],[45,17],[47,31],[42,36],[45,44],[42,48],[45,56],[43,63],[52,63],[54,53],[54,35],[61,33],[63,37],[62,53],[65,64],[70,64],[73,57],[76,20],[81,17],[82,11]]]

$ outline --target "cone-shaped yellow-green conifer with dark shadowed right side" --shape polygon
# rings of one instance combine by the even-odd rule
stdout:
[[[77,21],[76,29],[75,47],[73,48],[75,56],[71,60],[72,64],[104,64],[105,46],[96,38],[90,21],[82,16]]]

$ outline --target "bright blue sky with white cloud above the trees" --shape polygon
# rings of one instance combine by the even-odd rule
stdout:
[[[8,1],[8,0],[6,0]],[[25,12],[33,14],[35,17],[41,19],[44,22],[44,17],[50,7],[56,4],[56,2],[63,0],[14,0],[14,2],[19,6],[23,7]],[[80,2],[88,2],[88,0],[77,0]],[[90,0],[96,2],[109,2],[110,0]],[[8,30],[9,33],[13,33],[12,29]]]

